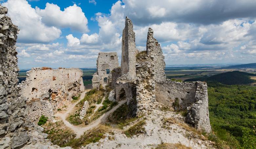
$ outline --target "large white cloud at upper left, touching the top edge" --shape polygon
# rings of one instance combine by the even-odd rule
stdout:
[[[38,15],[25,0],[8,0],[2,4],[8,8],[8,16],[13,24],[20,29],[18,42],[21,43],[46,43],[60,37],[61,30],[48,27],[42,23]]]

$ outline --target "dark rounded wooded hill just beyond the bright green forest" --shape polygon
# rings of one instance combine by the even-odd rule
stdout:
[[[250,84],[256,82],[256,80],[250,79],[249,76],[256,76],[256,74],[246,73],[241,71],[231,71],[221,74],[216,74],[210,77],[192,78],[185,81],[205,81],[205,82],[219,82],[222,84]]]

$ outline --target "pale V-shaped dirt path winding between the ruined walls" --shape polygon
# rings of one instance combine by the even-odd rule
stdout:
[[[85,131],[96,127],[99,123],[105,122],[105,121],[106,121],[106,118],[108,117],[108,115],[109,115],[110,113],[114,112],[119,106],[121,106],[122,104],[124,104],[124,103],[126,102],[126,100],[123,100],[123,101],[118,102],[117,106],[113,107],[111,110],[109,110],[108,112],[104,113],[104,114],[103,114],[102,116],[100,116],[97,120],[91,122],[91,124],[86,125],[85,127],[74,126],[74,125],[72,125],[71,123],[69,123],[69,122],[66,120],[66,118],[67,118],[67,116],[69,115],[69,113],[75,108],[75,105],[76,105],[78,102],[80,102],[80,101],[84,98],[85,94],[86,94],[86,92],[83,92],[83,93],[81,94],[81,96],[80,96],[79,101],[77,101],[77,102],[75,102],[74,104],[72,104],[71,106],[69,106],[69,107],[67,108],[67,110],[65,111],[65,113],[60,113],[60,112],[59,112],[59,113],[56,113],[56,114],[55,114],[55,117],[60,118],[60,119],[64,122],[64,124],[65,124],[66,126],[68,126],[69,128],[71,128],[71,129],[75,132],[76,138],[79,138],[81,135],[83,135]],[[102,99],[102,101],[103,101],[103,99]],[[102,104],[102,103],[96,104],[96,105],[98,105],[97,108],[100,107],[101,104]]]

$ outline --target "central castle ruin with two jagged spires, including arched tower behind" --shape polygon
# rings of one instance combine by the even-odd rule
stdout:
[[[110,54],[113,53],[104,53]],[[103,53],[99,53],[97,59],[97,77],[101,81],[102,78],[109,77],[104,73],[106,67],[102,55]],[[167,79],[162,49],[153,37],[151,28],[148,29],[146,51],[139,52],[135,45],[132,21],[126,17],[122,35],[121,67],[117,67],[116,62],[108,64],[112,71],[111,79],[108,79],[111,82],[107,83],[113,89],[110,94],[112,97],[109,98],[117,101],[126,98],[131,116],[142,115],[162,103],[173,110],[187,110],[188,123],[198,130],[211,132],[206,83],[181,83]],[[94,88],[99,85],[103,83],[93,81]]]

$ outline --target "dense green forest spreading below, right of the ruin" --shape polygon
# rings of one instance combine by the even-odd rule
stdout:
[[[209,83],[208,97],[213,130],[227,130],[239,142],[245,131],[255,136],[256,86]]]

